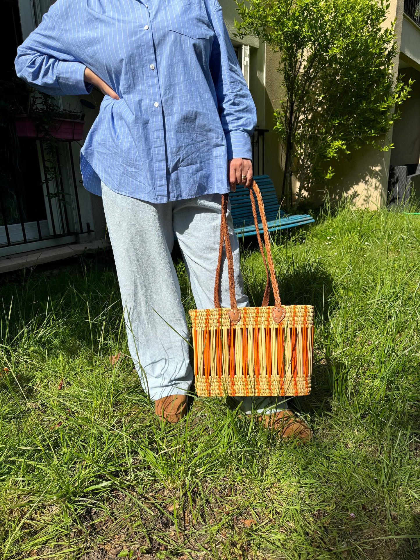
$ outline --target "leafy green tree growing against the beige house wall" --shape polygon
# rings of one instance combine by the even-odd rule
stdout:
[[[283,144],[282,199],[329,179],[329,161],[388,132],[410,87],[394,74],[394,24],[380,0],[236,0],[237,34],[255,35],[279,54],[283,93],[274,129]]]

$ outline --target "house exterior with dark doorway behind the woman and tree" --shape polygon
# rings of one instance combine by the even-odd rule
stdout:
[[[18,44],[35,29],[53,1],[4,0],[1,25],[11,72]],[[220,3],[257,110],[254,174],[270,175],[279,192],[282,153],[278,136],[272,132],[273,111],[281,95],[278,58],[255,37],[236,38],[236,4],[233,0]],[[393,20],[400,50],[395,69],[405,80],[416,80],[410,99],[402,106],[402,119],[387,137],[395,148],[391,152],[366,148],[337,162],[328,187],[332,199],[349,196],[370,208],[386,203],[390,165],[420,161],[420,0],[391,0],[389,21]],[[10,165],[10,172],[0,175],[0,272],[95,250],[106,243],[101,199],[83,188],[79,166],[83,139],[99,113],[101,99],[96,90],[90,95],[57,98],[62,109],[78,111],[85,124],[81,140],[59,142],[60,173],[54,180],[46,180],[50,156],[43,141],[25,136],[27,132],[18,136],[16,131],[0,128],[2,161],[6,158]],[[316,195],[321,199],[324,188]]]

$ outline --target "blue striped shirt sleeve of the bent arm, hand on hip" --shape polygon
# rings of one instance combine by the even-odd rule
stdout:
[[[83,95],[92,90],[84,81],[86,65],[66,50],[65,34],[53,4],[40,25],[17,49],[17,75],[49,95]]]

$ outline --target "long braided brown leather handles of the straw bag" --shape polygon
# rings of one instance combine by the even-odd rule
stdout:
[[[258,208],[260,211],[261,221],[263,224],[263,232],[264,232],[264,244],[265,244],[265,251],[267,251],[267,258],[264,254],[264,248],[262,244],[262,240],[260,237],[259,226],[258,226],[258,216],[256,214],[256,206],[255,206],[255,199],[254,193],[256,196],[256,200],[258,202]],[[251,199],[251,206],[253,209],[253,216],[254,216],[254,224],[255,224],[255,231],[256,237],[258,239],[258,246],[260,249],[260,253],[263,257],[263,263],[265,268],[265,273],[267,274],[267,283],[265,284],[264,290],[264,297],[263,297],[263,306],[268,305],[269,295],[270,295],[270,281],[271,285],[273,286],[273,293],[274,293],[274,307],[272,310],[273,320],[276,323],[279,323],[284,316],[286,315],[286,310],[282,307],[282,302],[280,299],[280,293],[278,290],[278,283],[276,278],[276,270],[274,269],[273,257],[271,254],[271,245],[270,245],[270,237],[268,234],[268,225],[267,225],[267,218],[265,217],[264,211],[264,203],[263,197],[260,193],[260,189],[258,185],[253,181],[252,185],[249,188],[249,195]],[[228,268],[228,277],[229,277],[229,295],[230,295],[230,305],[231,305],[231,312],[230,312],[230,319],[232,323],[237,323],[241,318],[241,312],[237,309],[236,303],[236,295],[235,295],[235,277],[234,277],[234,258],[232,255],[232,248],[230,244],[229,238],[229,231],[227,227],[227,219],[226,219],[226,211],[227,211],[227,199],[228,193],[222,194],[222,216],[221,216],[221,223],[220,223],[220,243],[219,243],[219,254],[218,254],[218,262],[216,268],[216,278],[214,281],[214,307],[220,307],[219,302],[219,284],[220,284],[220,269],[222,264],[222,253],[223,253],[223,244],[226,247],[226,258],[227,258],[227,268]],[[268,267],[267,267],[268,264]],[[268,270],[269,269],[269,270]]]

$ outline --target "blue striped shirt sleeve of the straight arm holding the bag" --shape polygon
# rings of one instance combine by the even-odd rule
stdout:
[[[254,100],[246,85],[229,38],[220,5],[212,15],[214,37],[210,70],[216,89],[217,104],[225,132],[228,160],[251,160],[251,135],[256,125]]]

